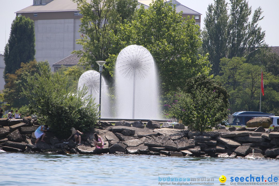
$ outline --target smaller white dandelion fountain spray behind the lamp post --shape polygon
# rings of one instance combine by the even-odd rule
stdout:
[[[98,105],[100,91],[100,73],[94,70],[89,70],[83,73],[78,80],[78,88],[81,90],[83,86],[87,87],[87,94],[85,96],[92,95],[92,98],[95,98],[94,102]],[[111,118],[108,86],[104,77],[102,77],[101,98],[101,118]]]

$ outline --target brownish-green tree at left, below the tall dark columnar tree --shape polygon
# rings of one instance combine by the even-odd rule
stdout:
[[[5,109],[11,107],[20,108],[23,105],[28,105],[28,100],[22,95],[22,89],[25,88],[27,83],[27,77],[32,74],[39,73],[40,64],[48,64],[47,61],[37,62],[30,61],[27,63],[21,63],[20,69],[15,71],[15,74],[6,74],[6,84],[4,85],[4,99],[9,104]]]

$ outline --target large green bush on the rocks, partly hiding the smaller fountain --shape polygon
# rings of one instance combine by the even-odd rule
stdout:
[[[98,107],[86,88],[78,93],[69,89],[69,80],[58,73],[52,74],[49,65],[41,64],[39,73],[27,78],[23,94],[27,97],[30,113],[36,113],[54,133],[68,137],[70,128],[80,131],[92,129],[98,118]]]

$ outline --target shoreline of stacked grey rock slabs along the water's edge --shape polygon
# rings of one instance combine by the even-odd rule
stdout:
[[[39,127],[31,117],[0,119],[0,149],[7,152],[58,154],[145,154],[160,156],[211,156],[222,158],[279,158],[279,127],[220,127],[212,132],[189,131],[184,125],[162,126],[150,120],[146,127],[141,121],[117,122],[113,126],[101,122],[98,129],[84,132],[82,145],[72,140],[66,143],[51,132],[45,142],[34,146],[34,131]],[[104,148],[96,149],[93,134],[104,140]]]

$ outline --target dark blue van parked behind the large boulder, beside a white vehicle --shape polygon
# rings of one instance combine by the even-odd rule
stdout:
[[[252,112],[252,111],[242,111],[233,113],[233,124],[232,125],[246,125],[247,121],[254,117],[270,117],[275,116],[271,113],[264,112]]]

